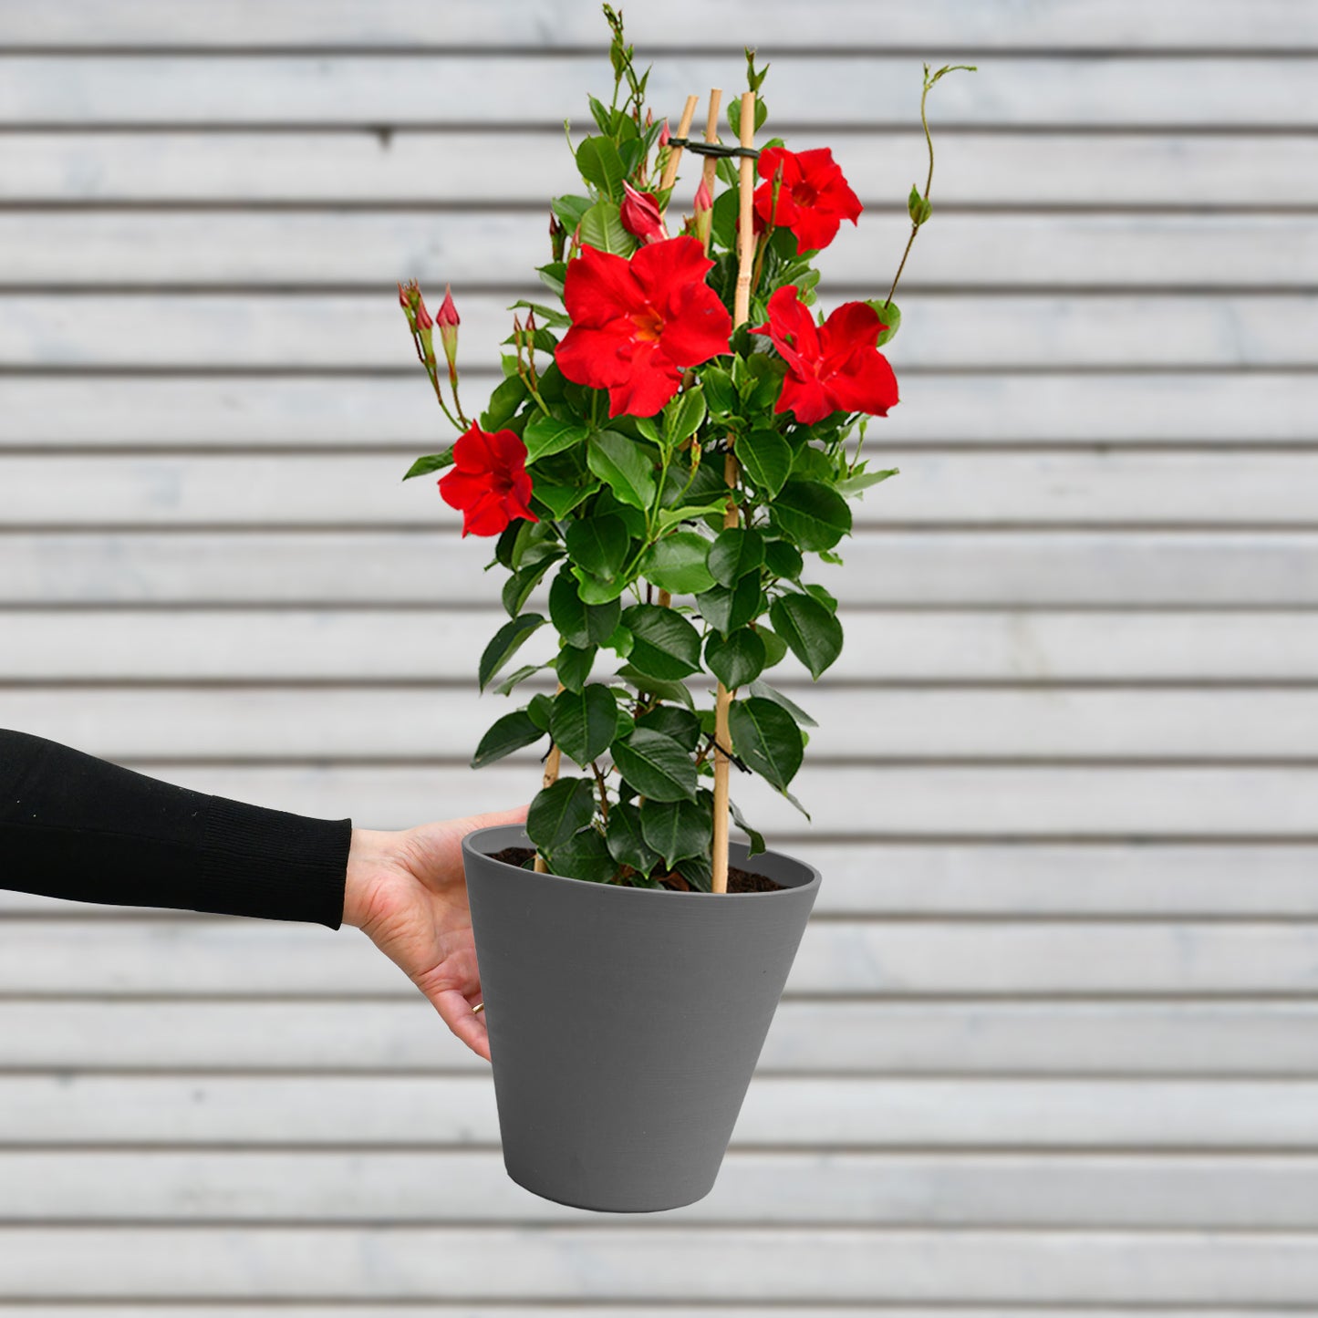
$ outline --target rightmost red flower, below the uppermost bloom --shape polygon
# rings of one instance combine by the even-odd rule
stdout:
[[[768,299],[767,333],[787,362],[775,413],[791,410],[803,426],[836,411],[887,416],[898,402],[898,380],[875,340],[887,326],[867,302],[844,302],[822,326],[801,302],[796,285],[776,289]]]

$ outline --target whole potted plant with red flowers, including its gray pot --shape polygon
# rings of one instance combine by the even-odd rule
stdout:
[[[898,402],[879,349],[900,316],[894,278],[817,320],[813,258],[862,206],[829,149],[754,146],[754,51],[729,105],[738,145],[718,142],[717,90],[704,141],[695,96],[670,134],[604,8],[613,99],[590,98],[581,187],[554,199],[539,268],[559,304],[513,304],[474,422],[451,293],[434,320],[415,281],[399,298],[460,431],[407,476],[443,472],[463,535],[497,536],[506,572],[480,688],[534,691],[472,763],[547,747],[525,829],[464,842],[505,1165],[550,1199],[647,1211],[712,1189],[818,892],[737,811],[729,770],[800,808],[813,725],[772,670],[792,654],[817,679],[842,648],[807,560],[840,563],[847,498],[894,474],[861,444]],[[924,96],[946,71],[925,66]],[[683,158],[700,179],[679,220]],[[932,173],[931,142],[911,241]],[[513,667],[540,629],[554,656]]]

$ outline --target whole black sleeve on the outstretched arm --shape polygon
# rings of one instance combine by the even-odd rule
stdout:
[[[337,929],[351,836],[0,729],[0,888]]]

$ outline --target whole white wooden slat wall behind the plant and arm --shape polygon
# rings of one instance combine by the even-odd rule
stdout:
[[[1318,3],[627,9],[672,112],[772,61],[936,214],[849,646],[783,821],[825,873],[722,1177],[507,1181],[488,1068],[351,931],[0,892],[0,1307],[637,1318],[1318,1309]],[[532,291],[592,4],[0,5],[0,726],[402,826],[473,775],[488,546],[390,297],[472,393]],[[689,182],[689,181],[688,181]],[[489,705],[489,708],[486,708]]]

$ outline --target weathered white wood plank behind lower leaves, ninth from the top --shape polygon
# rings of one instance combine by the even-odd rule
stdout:
[[[0,683],[468,683],[497,605],[467,609],[0,613]],[[1256,685],[1318,679],[1318,616],[855,610],[828,679]],[[389,645],[381,646],[380,638]],[[788,655],[775,684],[808,681]]]

